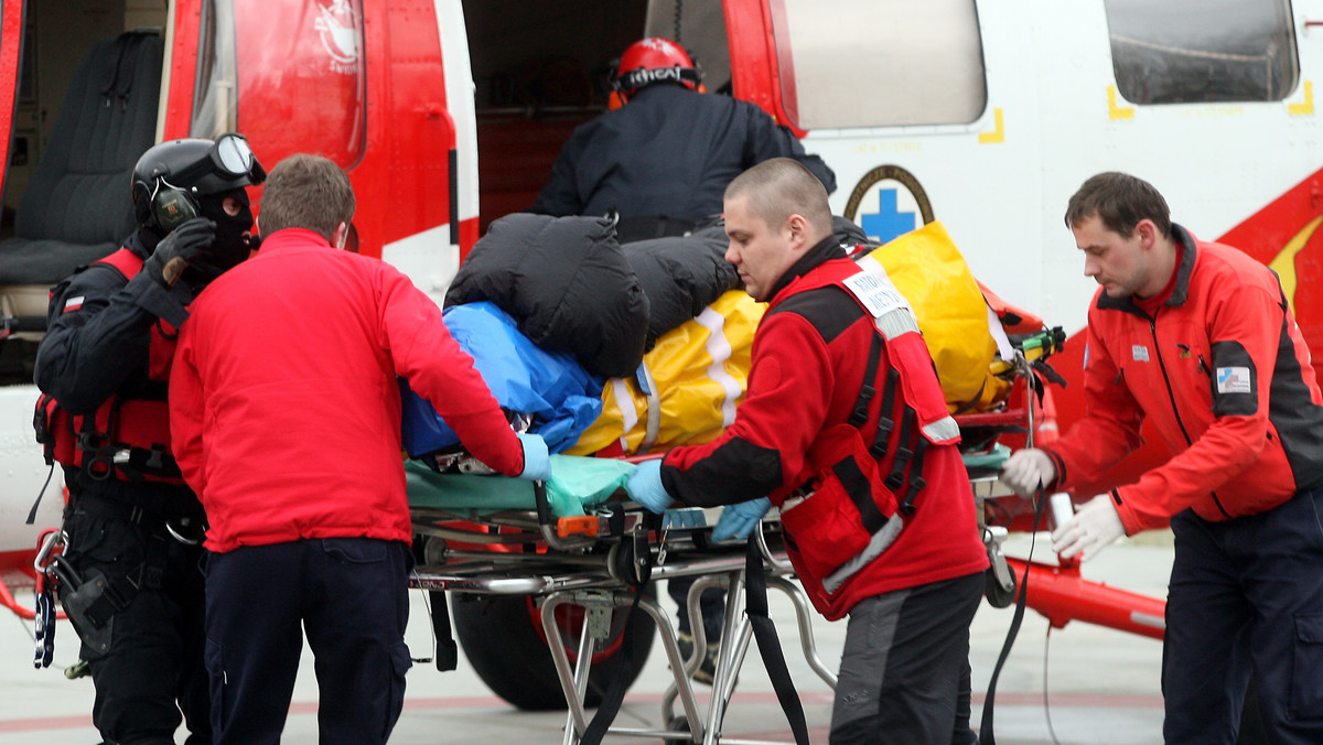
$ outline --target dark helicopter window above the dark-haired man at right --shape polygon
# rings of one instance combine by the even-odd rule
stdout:
[[[1106,0],[1117,89],[1134,103],[1282,101],[1299,79],[1289,0]]]

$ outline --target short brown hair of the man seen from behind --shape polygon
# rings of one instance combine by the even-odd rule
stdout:
[[[343,168],[320,155],[296,153],[267,176],[258,224],[267,236],[303,228],[329,241],[337,225],[353,220],[353,187]]]

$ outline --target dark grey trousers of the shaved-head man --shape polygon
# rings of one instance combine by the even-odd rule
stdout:
[[[970,623],[983,573],[860,601],[849,611],[832,745],[972,745]]]

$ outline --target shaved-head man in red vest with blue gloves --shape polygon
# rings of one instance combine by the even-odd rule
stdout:
[[[884,275],[845,255],[802,164],[745,171],[725,213],[726,261],[769,302],[747,394],[716,441],[640,464],[630,498],[655,512],[728,504],[717,539],[781,508],[814,606],[849,614],[833,745],[974,742],[970,622],[988,561],[917,322]]]

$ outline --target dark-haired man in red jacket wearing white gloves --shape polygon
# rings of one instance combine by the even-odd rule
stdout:
[[[1053,548],[1089,560],[1170,520],[1167,742],[1233,742],[1252,672],[1274,742],[1323,742],[1323,397],[1281,283],[1126,173],[1085,181],[1066,226],[1101,286],[1088,414],[1002,478],[1021,495],[1095,483],[1147,418],[1171,459],[1085,503]]]

